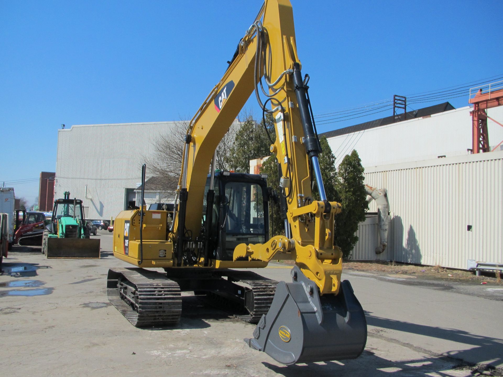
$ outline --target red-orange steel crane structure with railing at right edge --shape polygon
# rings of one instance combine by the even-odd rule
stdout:
[[[473,92],[475,96],[472,98]],[[493,82],[483,87],[471,88],[469,103],[473,104],[473,110],[470,112],[472,116],[472,153],[489,152],[487,119],[490,119],[501,127],[503,127],[503,124],[489,117],[486,110],[503,105],[503,81]],[[496,150],[501,144],[503,144],[503,140],[492,151]]]

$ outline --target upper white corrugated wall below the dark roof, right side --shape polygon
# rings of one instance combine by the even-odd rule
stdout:
[[[466,155],[471,148],[469,107],[412,119],[352,134],[327,139],[339,165],[343,157],[356,149],[364,167],[417,161],[445,155]],[[503,106],[489,109],[488,115],[503,123]],[[503,140],[503,127],[487,121],[489,144]]]

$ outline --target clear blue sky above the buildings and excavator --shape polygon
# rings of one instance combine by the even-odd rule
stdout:
[[[499,1],[291,2],[315,114],[503,76]],[[60,124],[190,119],[261,5],[0,1],[0,184],[54,171]]]

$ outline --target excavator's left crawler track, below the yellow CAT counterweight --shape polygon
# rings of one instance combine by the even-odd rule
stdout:
[[[119,296],[117,279],[120,275],[136,287],[137,311]],[[163,273],[142,268],[110,268],[107,287],[108,300],[135,327],[162,327],[180,321],[182,314],[180,287]]]

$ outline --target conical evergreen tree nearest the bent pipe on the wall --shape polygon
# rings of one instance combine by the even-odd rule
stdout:
[[[335,217],[333,243],[342,249],[346,258],[358,241],[355,233],[358,224],[365,220],[368,208],[363,171],[360,156],[353,150],[343,158],[335,181],[336,200],[342,204],[342,212]]]

